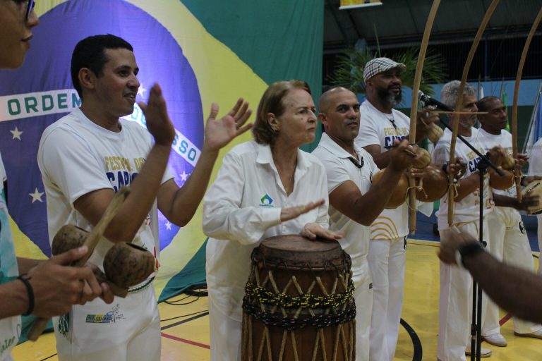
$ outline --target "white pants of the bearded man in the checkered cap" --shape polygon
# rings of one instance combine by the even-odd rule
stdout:
[[[406,238],[370,240],[368,261],[373,279],[369,360],[391,361],[401,322]]]

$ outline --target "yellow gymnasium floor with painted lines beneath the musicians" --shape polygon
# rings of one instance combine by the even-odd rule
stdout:
[[[536,234],[536,233],[535,233]],[[438,243],[411,240],[406,261],[406,287],[395,360],[436,360],[438,330]],[[538,254],[534,254],[538,257]],[[162,316],[162,360],[209,360],[209,317],[207,298],[179,295],[159,305]],[[502,314],[502,335],[508,346],[499,348],[483,343],[493,350],[488,360],[542,360],[542,340],[514,336],[512,320]],[[58,360],[54,336],[46,334],[36,343],[18,345],[16,361]]]

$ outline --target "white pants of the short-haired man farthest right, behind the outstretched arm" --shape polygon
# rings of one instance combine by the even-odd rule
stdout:
[[[493,212],[486,216],[486,221],[488,222],[491,254],[499,260],[504,260],[507,264],[534,271],[531,245],[519,212],[509,207],[495,207]],[[487,297],[487,295],[484,293],[483,297]],[[498,305],[492,300],[488,300],[482,335],[489,336],[500,333],[499,319]],[[542,329],[540,324],[526,322],[517,317],[514,317],[513,320],[514,331],[519,334],[530,334]]]

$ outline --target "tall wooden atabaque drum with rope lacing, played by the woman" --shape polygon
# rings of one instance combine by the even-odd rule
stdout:
[[[251,255],[243,361],[354,361],[351,259],[335,240],[267,238]]]

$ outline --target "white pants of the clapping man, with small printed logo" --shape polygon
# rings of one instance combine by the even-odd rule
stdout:
[[[68,323],[54,317],[53,325],[60,361],[160,360],[160,317],[152,284],[114,298],[111,305],[99,298],[75,305]]]

